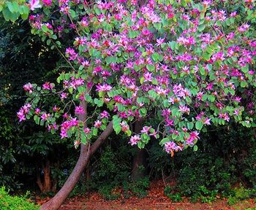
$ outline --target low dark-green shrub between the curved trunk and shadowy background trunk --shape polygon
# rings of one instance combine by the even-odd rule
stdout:
[[[138,180],[130,179],[132,168],[132,153],[124,141],[115,147],[107,146],[102,152],[92,158],[89,165],[90,178],[86,174],[72,190],[71,196],[83,195],[86,191],[97,190],[105,199],[115,200],[121,195],[124,198],[131,196],[145,197],[149,187],[148,176]]]

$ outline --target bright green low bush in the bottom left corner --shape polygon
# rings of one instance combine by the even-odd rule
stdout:
[[[11,196],[5,190],[5,187],[0,188],[0,209],[1,210],[35,210],[39,206],[30,203],[26,197],[29,193],[23,196]]]

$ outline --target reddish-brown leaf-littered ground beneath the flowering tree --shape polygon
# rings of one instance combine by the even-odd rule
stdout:
[[[164,186],[161,182],[154,182],[151,184],[148,196],[146,198],[120,198],[116,201],[105,201],[97,193],[88,193],[75,198],[69,198],[61,206],[59,210],[256,210],[256,203],[254,199],[241,201],[233,206],[227,204],[227,200],[218,199],[213,203],[189,203],[185,198],[181,203],[172,203],[169,198],[164,195]],[[38,201],[39,204],[44,201]]]

